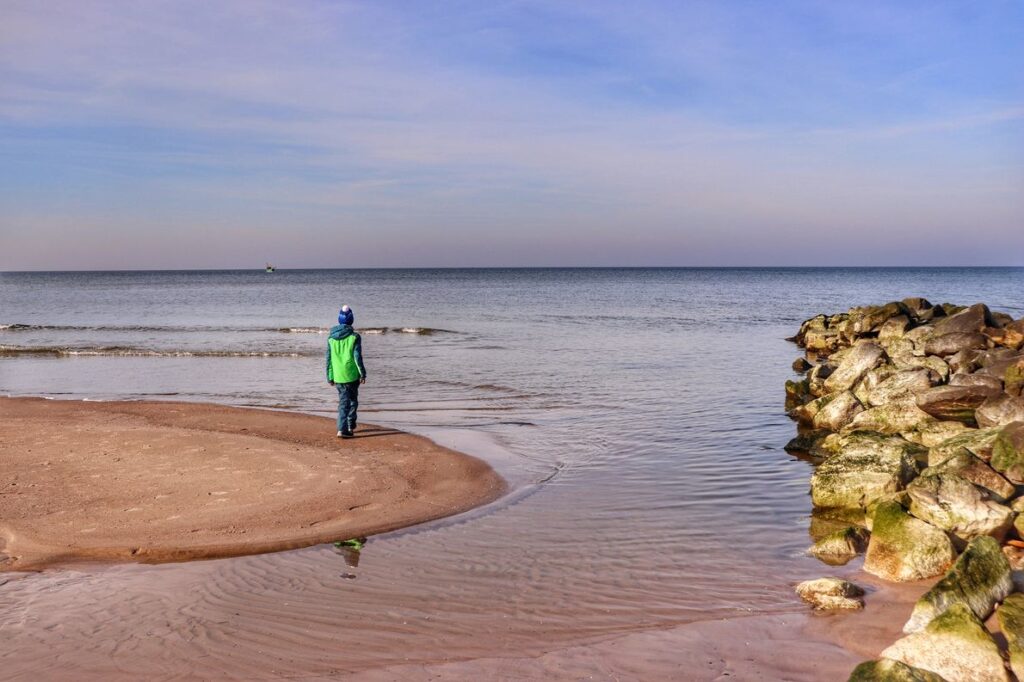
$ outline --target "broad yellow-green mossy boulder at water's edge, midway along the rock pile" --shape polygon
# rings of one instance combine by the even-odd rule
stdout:
[[[924,452],[898,436],[866,431],[842,436],[833,447],[837,454],[811,476],[811,501],[817,508],[866,509],[905,487],[918,475],[915,457]]]

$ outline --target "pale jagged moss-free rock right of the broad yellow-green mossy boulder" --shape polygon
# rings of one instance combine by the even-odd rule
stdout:
[[[926,469],[906,492],[913,516],[965,543],[979,536],[1002,540],[1014,522],[1009,507],[986,500],[971,481],[955,473]]]

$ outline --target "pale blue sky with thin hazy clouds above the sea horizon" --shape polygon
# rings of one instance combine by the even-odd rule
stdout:
[[[1020,0],[0,0],[0,270],[1024,265]]]

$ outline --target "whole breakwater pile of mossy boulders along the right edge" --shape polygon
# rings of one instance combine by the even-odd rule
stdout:
[[[786,450],[816,464],[811,553],[939,579],[850,679],[1024,682],[1024,319],[908,298],[817,315],[792,340]]]

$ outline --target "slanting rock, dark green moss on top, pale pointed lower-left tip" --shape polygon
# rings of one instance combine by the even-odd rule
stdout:
[[[920,632],[954,604],[963,604],[984,621],[1013,591],[1010,562],[994,538],[975,538],[956,563],[913,605],[903,632]]]

